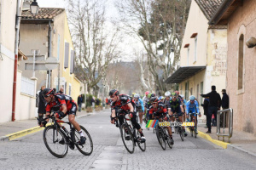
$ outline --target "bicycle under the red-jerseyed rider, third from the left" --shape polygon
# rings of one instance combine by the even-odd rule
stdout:
[[[159,121],[160,119],[163,119],[162,115],[154,116],[154,120]],[[156,133],[157,140],[163,150],[166,150],[166,142],[167,142],[169,148],[172,149],[171,138],[169,136],[167,127],[161,127],[158,123],[155,127],[155,133]]]

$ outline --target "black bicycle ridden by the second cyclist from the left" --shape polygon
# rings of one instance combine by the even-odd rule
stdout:
[[[120,134],[123,144],[125,145],[125,149],[132,154],[137,143],[140,150],[145,151],[146,142],[141,143],[141,137],[139,132],[137,131],[136,133],[136,128],[133,124],[131,126],[131,118],[128,116],[128,112],[119,109],[119,111],[117,111],[117,117],[118,120],[124,120],[124,122],[122,123],[117,123],[119,124]]]

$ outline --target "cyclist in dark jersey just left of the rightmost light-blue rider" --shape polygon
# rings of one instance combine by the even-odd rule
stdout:
[[[168,106],[169,115],[172,116],[172,121],[174,122],[174,113],[177,113],[179,122],[183,123],[183,105],[181,104],[180,100],[177,99],[177,94],[172,93],[172,99]],[[172,127],[172,131],[174,131]],[[184,136],[186,137],[188,134],[186,133],[185,127],[183,127]]]

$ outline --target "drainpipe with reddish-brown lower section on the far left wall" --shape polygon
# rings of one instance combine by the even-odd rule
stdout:
[[[16,81],[17,81],[17,67],[18,67],[18,49],[19,49],[19,32],[20,32],[20,0],[17,0],[16,7],[16,26],[15,26],[15,71],[14,71],[14,86],[13,86],[13,109],[12,122],[15,122],[15,105],[16,105]]]

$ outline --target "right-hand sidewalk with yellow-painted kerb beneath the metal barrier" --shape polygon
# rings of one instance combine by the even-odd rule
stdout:
[[[224,149],[237,150],[243,153],[247,153],[251,156],[256,156],[256,136],[253,133],[246,133],[237,131],[233,129],[232,137],[230,138],[230,143],[228,143],[228,138],[219,137],[216,135],[216,127],[212,127],[212,133],[206,133],[207,128],[205,128],[206,123],[199,123],[198,131],[201,138],[207,139],[214,144],[222,146]],[[228,133],[229,129],[225,127],[225,132]],[[221,128],[222,133],[222,128]]]

